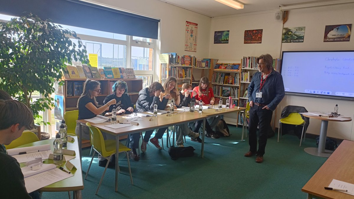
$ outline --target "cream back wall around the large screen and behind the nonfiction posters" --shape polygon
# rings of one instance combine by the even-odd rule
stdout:
[[[219,60],[239,61],[242,56],[258,56],[269,53],[280,58],[281,51],[289,50],[353,50],[354,39],[349,42],[323,42],[325,25],[354,24],[354,4],[304,8],[289,11],[284,27],[306,26],[303,43],[281,43],[282,21],[274,20],[274,12],[211,20],[209,56]],[[261,44],[244,44],[244,31],[263,29]],[[230,30],[228,44],[213,44],[214,31]],[[353,31],[353,28],[352,28]],[[315,74],[314,74],[315,75]],[[278,127],[281,110],[287,105],[305,107],[308,111],[332,111],[338,104],[339,113],[354,116],[354,102],[327,98],[286,95],[276,111]],[[353,121],[329,122],[327,136],[354,140]],[[307,133],[319,134],[320,121],[310,120]]]

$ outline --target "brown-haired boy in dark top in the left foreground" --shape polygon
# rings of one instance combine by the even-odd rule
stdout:
[[[40,198],[37,191],[27,193],[20,165],[6,154],[3,145],[21,137],[25,128],[32,129],[33,115],[26,105],[16,100],[0,100],[0,110],[0,198]]]

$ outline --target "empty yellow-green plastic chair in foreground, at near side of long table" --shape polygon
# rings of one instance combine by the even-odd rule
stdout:
[[[93,161],[93,157],[95,157],[95,153],[96,152],[98,154],[100,154],[102,157],[104,157],[105,159],[108,160],[107,164],[106,164],[106,167],[104,168],[101,180],[98,183],[98,187],[97,187],[97,190],[96,190],[96,195],[97,195],[99,187],[101,186],[104,174],[105,174],[105,172],[107,170],[109,161],[110,161],[112,155],[114,155],[116,153],[115,140],[104,140],[102,132],[98,128],[91,126],[91,124],[89,122],[86,123],[86,126],[88,126],[89,129],[90,129],[90,142],[91,142],[91,145],[92,145],[94,151],[93,151],[93,155],[92,155],[92,158],[91,158],[91,162],[90,162],[89,168],[87,169],[87,172],[86,172],[85,180],[87,178],[87,175],[89,174],[89,170],[90,170],[90,167],[91,167],[91,164],[92,164],[92,161]],[[132,173],[131,173],[131,170],[130,170],[130,162],[129,162],[129,157],[128,157],[128,152],[127,151],[130,151],[130,149],[128,147],[124,146],[124,144],[119,143],[119,151],[118,151],[118,153],[125,153],[126,156],[127,156],[130,181],[131,181],[131,184],[133,185],[133,178],[132,178]],[[116,158],[118,158],[118,156]]]

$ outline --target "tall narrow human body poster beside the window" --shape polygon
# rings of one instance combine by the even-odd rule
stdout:
[[[198,24],[185,21],[184,50],[197,52]]]

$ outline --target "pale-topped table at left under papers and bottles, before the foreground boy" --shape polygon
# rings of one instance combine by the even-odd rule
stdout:
[[[39,191],[42,192],[62,192],[62,191],[73,191],[74,192],[74,198],[81,199],[81,190],[84,189],[84,181],[82,180],[82,170],[81,170],[81,158],[79,157],[79,140],[78,137],[74,137],[75,141],[68,141],[67,149],[69,150],[74,150],[76,153],[76,157],[71,159],[70,162],[74,164],[76,169],[70,170],[70,172],[74,175],[71,177],[68,177],[67,179],[61,180],[59,182],[55,182],[51,185],[45,186],[43,188],[40,188]],[[36,141],[34,143],[30,144],[25,144],[20,147],[26,147],[26,146],[39,146],[39,145],[44,145],[44,144],[50,144],[51,150],[53,151],[53,141],[55,139],[49,139],[49,140],[41,140],[41,141]],[[80,148],[81,149],[81,148]],[[44,161],[45,164],[53,164],[52,159],[46,159]],[[65,169],[68,169],[65,167],[66,162],[64,162],[61,166],[64,167]],[[21,167],[24,167],[24,163],[20,163]],[[69,169],[68,169],[69,170]]]

